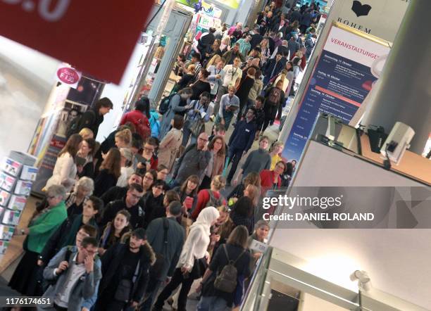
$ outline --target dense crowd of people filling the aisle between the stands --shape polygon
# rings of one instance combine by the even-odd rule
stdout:
[[[180,79],[158,112],[142,97],[101,144],[113,103],[77,118],[46,197],[15,229],[25,255],[9,286],[51,298],[43,310],[162,310],[175,297],[182,311],[191,288],[198,310],[238,306],[262,255],[249,246],[269,231],[255,222],[259,198],[295,169],[264,133],[304,69],[316,12],[271,2],[252,30],[201,34],[191,61],[178,56]]]

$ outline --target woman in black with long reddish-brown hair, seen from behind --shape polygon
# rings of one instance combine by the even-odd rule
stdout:
[[[118,148],[111,148],[100,165],[99,174],[94,179],[94,196],[100,197],[109,188],[115,186],[121,175],[121,153]]]

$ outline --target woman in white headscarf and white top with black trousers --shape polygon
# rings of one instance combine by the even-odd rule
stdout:
[[[216,208],[204,208],[199,213],[196,222],[190,227],[189,236],[182,247],[180,260],[173,274],[172,280],[165,286],[158,295],[153,310],[163,310],[165,300],[167,300],[175,289],[181,286],[178,297],[178,311],[186,310],[187,295],[192,287],[193,281],[199,279],[206,269],[207,248],[210,243],[210,228],[220,217],[220,212]]]

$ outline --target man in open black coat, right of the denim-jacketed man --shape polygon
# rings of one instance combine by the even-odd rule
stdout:
[[[102,279],[96,311],[135,309],[144,296],[149,268],[156,260],[145,229],[135,229],[125,244],[117,243],[101,258]]]

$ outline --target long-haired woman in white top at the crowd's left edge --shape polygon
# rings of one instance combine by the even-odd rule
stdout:
[[[80,150],[81,142],[82,137],[80,134],[70,136],[64,148],[57,155],[56,165],[54,166],[51,178],[46,182],[45,189],[56,184],[63,185],[66,192],[72,190],[77,174],[75,157]]]

